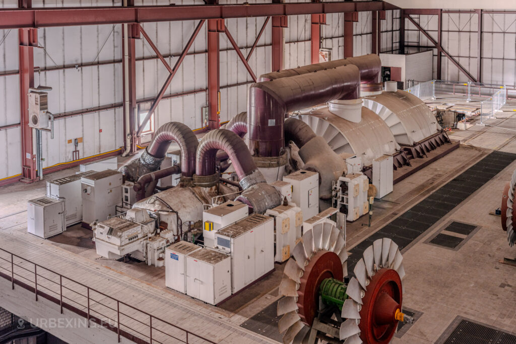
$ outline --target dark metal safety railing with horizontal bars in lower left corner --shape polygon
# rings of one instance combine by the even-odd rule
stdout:
[[[87,327],[102,326],[136,343],[214,343],[51,269],[0,249],[0,277],[85,319]]]

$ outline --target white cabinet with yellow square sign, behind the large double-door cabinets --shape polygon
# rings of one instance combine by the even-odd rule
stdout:
[[[247,204],[235,201],[228,201],[204,210],[202,214],[204,246],[214,248],[215,233],[220,228],[235,223],[248,215]]]

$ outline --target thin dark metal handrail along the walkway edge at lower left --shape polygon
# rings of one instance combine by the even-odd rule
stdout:
[[[120,337],[124,337],[124,338],[127,338],[127,339],[129,339],[129,340],[132,340],[132,341],[135,341],[135,342],[138,342],[138,343],[149,343],[149,344],[152,344],[153,342],[154,342],[154,343],[161,343],[160,341],[158,341],[158,340],[156,340],[156,339],[153,339],[153,338],[152,338],[152,333],[153,333],[153,331],[157,331],[157,332],[159,332],[159,333],[161,333],[161,334],[163,334],[163,335],[166,335],[166,336],[168,336],[168,337],[170,337],[170,338],[173,338],[173,339],[175,339],[175,340],[179,340],[179,341],[182,341],[182,342],[186,342],[186,343],[188,343],[188,335],[191,335],[191,336],[194,336],[194,337],[196,337],[196,338],[202,339],[202,340],[204,340],[204,341],[206,341],[206,342],[208,342],[208,343],[213,343],[213,344],[215,344],[215,342],[214,342],[214,341],[212,341],[212,340],[209,340],[209,339],[207,339],[207,338],[204,338],[203,336],[200,336],[200,335],[197,335],[197,334],[195,334],[195,333],[193,333],[193,332],[190,332],[190,331],[188,331],[188,330],[184,329],[184,328],[183,328],[183,327],[181,327],[181,326],[174,325],[174,324],[172,324],[172,323],[170,323],[170,322],[168,322],[168,321],[166,321],[166,320],[163,320],[163,319],[161,319],[161,318],[155,317],[155,316],[153,316],[152,314],[145,312],[144,310],[140,310],[140,309],[138,309],[138,308],[135,308],[134,306],[131,306],[130,304],[127,304],[127,303],[125,303],[125,302],[123,302],[123,301],[120,301],[120,300],[118,300],[118,299],[115,299],[115,298],[113,298],[113,297],[110,297],[110,296],[108,296],[107,294],[103,293],[102,291],[96,290],[96,289],[94,289],[94,288],[91,288],[91,287],[89,287],[89,286],[87,286],[87,285],[83,284],[83,283],[80,283],[80,282],[77,282],[77,281],[75,281],[75,280],[72,280],[72,279],[70,279],[69,277],[63,276],[62,274],[60,274],[60,273],[58,273],[58,272],[55,272],[55,271],[53,271],[53,270],[51,270],[51,269],[49,269],[49,268],[45,268],[45,267],[43,267],[43,266],[41,266],[41,265],[39,265],[39,264],[33,263],[33,262],[31,262],[31,261],[29,261],[29,260],[27,260],[27,259],[25,259],[25,258],[23,258],[23,257],[21,257],[21,256],[19,256],[19,255],[17,255],[17,254],[14,254],[14,253],[12,253],[12,252],[9,252],[9,251],[4,250],[4,249],[1,249],[1,248],[0,248],[0,251],[5,252],[5,253],[7,253],[7,254],[9,254],[9,255],[11,256],[11,259],[10,259],[10,260],[5,259],[5,258],[3,258],[3,257],[0,257],[0,259],[2,259],[2,260],[4,260],[4,261],[6,261],[7,263],[10,263],[10,265],[11,265],[11,270],[10,270],[10,271],[9,271],[9,269],[6,269],[5,267],[0,267],[0,268],[2,268],[3,270],[5,270],[7,273],[9,273],[9,272],[10,272],[10,276],[9,276],[7,273],[0,272],[0,277],[3,277],[5,280],[11,281],[11,288],[12,288],[13,290],[14,290],[14,285],[15,285],[15,284],[17,284],[17,285],[19,285],[19,286],[21,286],[21,287],[25,288],[26,290],[34,291],[36,301],[38,301],[38,296],[41,296],[41,297],[44,297],[45,299],[47,299],[47,300],[49,300],[49,301],[52,301],[52,302],[54,302],[54,303],[58,304],[58,305],[60,306],[60,312],[61,312],[61,314],[63,314],[63,308],[67,308],[67,309],[69,309],[69,310],[72,310],[72,312],[74,312],[75,314],[78,314],[79,316],[83,316],[83,317],[85,317],[85,318],[87,319],[88,327],[90,326],[90,320],[91,320],[91,321],[93,321],[93,322],[95,322],[95,323],[99,323],[99,322],[100,322],[100,324],[101,324],[103,327],[105,327],[106,329],[111,330],[111,331],[113,331],[113,332],[116,332],[116,333],[117,333],[118,342],[120,342]],[[21,259],[21,260],[22,260],[22,263],[23,263],[23,261],[26,261],[27,263],[29,263],[29,264],[33,265],[33,266],[34,266],[34,271],[31,271],[31,270],[29,270],[29,269],[27,269],[27,268],[25,268],[24,266],[21,266],[21,265],[19,265],[19,264],[15,264],[15,263],[14,263],[14,257],[16,257],[16,258],[18,258],[18,259]],[[30,280],[30,279],[28,279],[27,277],[22,276],[22,275],[20,275],[20,274],[18,274],[18,273],[14,273],[14,267],[15,267],[15,266],[16,266],[16,267],[18,267],[18,268],[23,269],[23,270],[24,270],[24,271],[26,271],[27,273],[31,273],[31,274],[33,274],[33,275],[34,275],[34,281],[31,281],[31,280]],[[57,277],[59,277],[59,283],[57,283],[57,282],[55,282],[55,281],[52,281],[52,280],[50,280],[49,278],[47,278],[47,277],[45,277],[45,276],[41,275],[41,272],[39,272],[39,273],[38,273],[38,270],[42,270],[42,269],[43,269],[43,270],[45,270],[45,271],[51,272],[51,273],[55,274]],[[16,278],[16,279],[15,279],[15,276],[17,276],[17,278]],[[47,281],[49,281],[49,282],[55,283],[56,285],[59,285],[59,292],[54,291],[54,290],[51,290],[51,289],[49,289],[48,287],[45,287],[45,286],[39,285],[39,287],[40,287],[40,288],[46,289],[47,291],[49,291],[49,292],[51,292],[51,293],[54,293],[54,294],[58,295],[58,296],[59,296],[59,299],[57,299],[57,298],[55,298],[55,297],[52,297],[50,294],[48,294],[48,293],[46,293],[46,292],[44,292],[44,291],[42,291],[42,290],[38,290],[38,276],[39,276],[39,277],[41,277],[41,278],[42,278],[42,279],[44,279],[44,280],[47,280]],[[29,277],[30,277],[30,276],[29,276]],[[29,283],[31,283],[31,284],[33,283],[33,284],[34,284],[34,287],[32,287],[31,285],[28,285],[28,284],[27,284],[27,283],[25,283],[25,282],[22,282],[20,279],[24,279],[24,280],[28,281],[28,282],[29,282]],[[65,282],[66,282],[66,281],[69,281],[69,282],[72,282],[72,283],[77,284],[78,286],[81,286],[81,287],[86,288],[86,295],[84,295],[84,294],[80,293],[79,291],[76,291],[76,290],[72,290],[72,289],[70,289],[70,288],[73,288],[73,287],[72,287],[72,286],[70,286],[70,285],[69,285],[69,286],[63,286],[63,280],[65,280]],[[78,294],[80,297],[86,298],[87,305],[83,305],[83,304],[81,304],[80,302],[74,301],[74,300],[72,300],[72,299],[69,299],[69,298],[68,298],[68,297],[66,297],[66,296],[63,296],[63,288],[65,288],[65,289],[67,289],[67,290],[70,290],[70,291],[72,291],[72,292],[74,292],[74,293]],[[103,304],[103,303],[102,303],[102,302],[100,302],[100,301],[97,301],[97,300],[92,299],[92,298],[91,298],[91,296],[90,296],[90,292],[98,293],[99,295],[101,295],[101,296],[103,296],[103,297],[107,298],[109,301],[115,301],[115,302],[117,303],[117,306],[116,306],[116,308],[117,308],[117,309],[114,309],[114,308],[112,308],[112,307],[108,306],[107,304]],[[67,303],[63,302],[63,299],[67,299],[67,300],[69,300],[70,302],[75,303],[75,304],[77,304],[77,305],[79,305],[79,306],[81,306],[81,307],[86,307],[86,308],[87,308],[87,312],[84,312],[84,310],[80,310],[80,309],[76,308],[75,306],[72,306],[71,304],[67,304]],[[116,311],[116,312],[117,312],[117,319],[111,319],[111,318],[109,318],[108,316],[103,315],[103,314],[101,314],[100,312],[98,312],[98,310],[93,310],[93,309],[91,309],[91,306],[92,306],[92,305],[90,304],[90,301],[92,301],[92,302],[93,302],[94,304],[96,304],[96,305],[100,305],[100,306],[103,306],[103,307],[107,307],[107,308],[108,308],[108,309],[110,309],[110,310]],[[143,321],[140,321],[139,319],[136,319],[136,318],[134,318],[134,317],[128,316],[127,314],[125,314],[125,313],[121,312],[121,311],[120,311],[120,305],[123,305],[123,306],[129,307],[129,308],[131,308],[131,309],[136,310],[137,312],[139,312],[139,313],[140,313],[140,315],[143,315],[143,316],[147,316],[147,317],[149,317],[149,325],[145,324]],[[111,325],[111,324],[105,323],[105,322],[104,322],[104,321],[102,321],[101,319],[98,319],[98,318],[96,318],[96,317],[92,316],[92,315],[91,315],[91,312],[93,312],[93,313],[95,313],[95,314],[98,314],[98,315],[100,315],[100,316],[104,317],[105,319],[108,319],[108,320],[110,320],[110,321],[116,322],[116,327],[115,327],[115,326],[113,326],[113,325]],[[120,320],[120,315],[121,315],[121,314],[122,314],[124,317],[128,318],[129,320],[134,320],[134,321],[136,321],[136,322],[138,322],[138,323],[141,323],[142,325],[146,325],[146,326],[148,326],[149,335],[148,335],[148,336],[147,336],[147,335],[144,335],[144,334],[142,334],[141,332],[139,332],[139,331],[137,331],[137,330],[135,330],[135,329],[132,329],[131,325],[126,325],[126,324],[124,324],[123,322],[121,322],[121,320]],[[155,325],[153,326],[153,324],[152,324],[152,322],[153,322],[152,320],[153,320],[153,319],[158,320],[159,322],[162,322],[162,323],[164,323],[164,324],[166,324],[166,325],[172,326],[172,327],[174,327],[174,328],[175,328],[175,329],[177,329],[177,330],[183,331],[183,332],[186,334],[186,340],[182,340],[182,339],[179,339],[179,338],[177,338],[177,337],[174,337],[174,336],[172,336],[171,334],[168,334],[168,333],[166,333],[166,332],[164,332],[164,331],[162,331],[162,330],[158,329],[157,327],[155,327]],[[127,331],[122,330],[122,329],[120,328],[121,326],[126,327],[127,329],[131,329],[131,331],[138,333],[139,335],[141,335],[141,336],[142,336],[142,337],[144,337],[144,338],[136,337],[136,336],[132,335],[131,333],[128,333]],[[149,341],[147,341],[147,338],[149,338]]]

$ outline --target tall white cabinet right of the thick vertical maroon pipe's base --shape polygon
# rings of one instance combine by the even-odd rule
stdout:
[[[319,174],[299,170],[283,177],[283,182],[292,184],[292,202],[301,208],[303,218],[319,214]]]

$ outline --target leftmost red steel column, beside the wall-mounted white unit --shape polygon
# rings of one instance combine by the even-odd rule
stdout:
[[[20,8],[32,7],[31,0],[20,0]],[[38,29],[18,29],[18,58],[20,69],[20,128],[22,143],[23,183],[37,181],[36,155],[33,149],[33,128],[29,127],[28,96],[30,87],[34,87],[34,46],[38,45]]]

